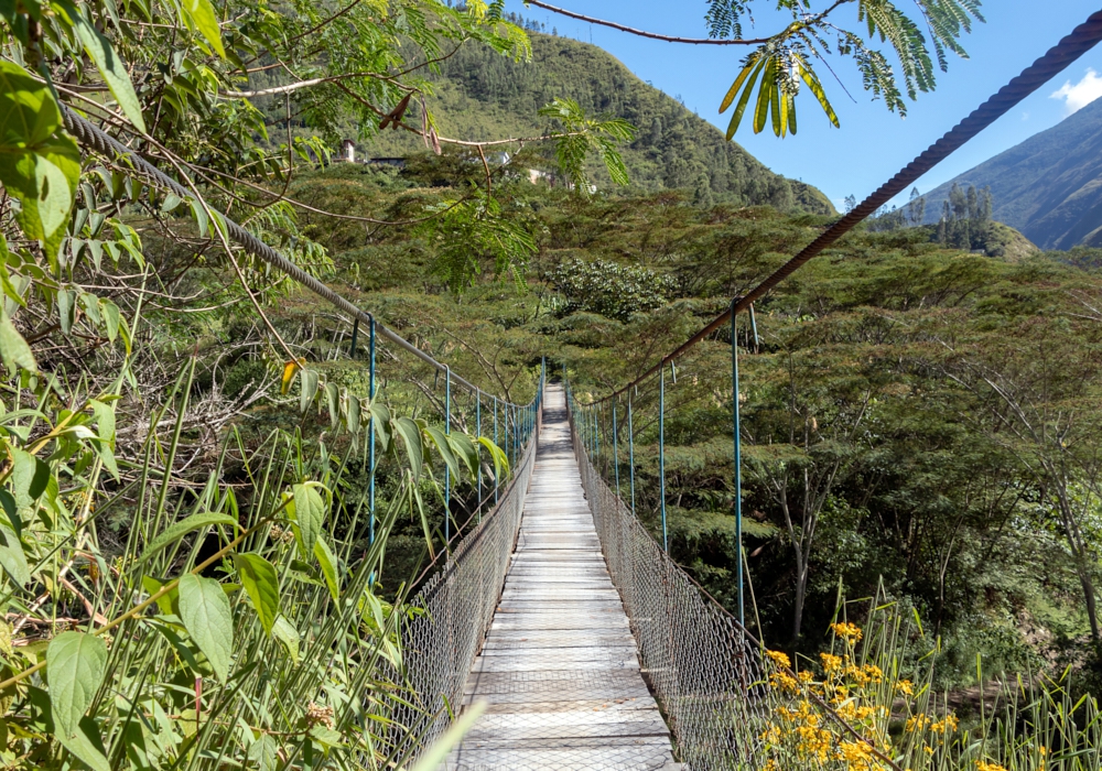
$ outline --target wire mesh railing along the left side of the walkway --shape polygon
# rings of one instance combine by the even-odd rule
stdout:
[[[542,425],[542,390],[536,403],[528,445],[497,506],[408,604],[413,615],[401,632],[403,672],[398,677],[406,692],[391,715],[392,757],[417,758],[461,709],[467,673],[494,620],[520,531]]]

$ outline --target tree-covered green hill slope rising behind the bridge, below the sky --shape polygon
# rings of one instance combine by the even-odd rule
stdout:
[[[688,188],[704,203],[834,213],[820,191],[774,174],[607,52],[565,37],[534,32],[531,37],[530,63],[515,63],[484,46],[464,46],[442,64],[430,100],[442,135],[465,140],[539,135],[547,126],[537,110],[565,97],[590,113],[622,117],[638,128],[636,141],[624,150],[624,161],[633,185],[641,191]],[[359,133],[361,153],[425,152],[420,139],[402,131],[376,133],[368,128]],[[592,169],[594,177],[601,186],[611,184],[598,165]]]

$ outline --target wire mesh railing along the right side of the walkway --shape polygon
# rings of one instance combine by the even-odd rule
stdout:
[[[773,709],[756,640],[674,563],[594,468],[571,413],[571,438],[613,584],[648,685],[693,771],[757,768]]]

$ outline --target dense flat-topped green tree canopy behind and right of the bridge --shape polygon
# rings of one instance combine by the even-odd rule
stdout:
[[[407,195],[367,170],[339,178],[395,206]],[[450,300],[443,284],[411,283],[432,247],[408,235],[333,232],[338,268],[371,274],[366,302],[400,307],[411,329],[439,329],[451,308],[456,339],[490,371],[497,356],[565,362],[583,401],[649,367],[824,222],[669,193],[584,202],[518,181],[499,194],[539,234],[527,293],[488,284]],[[799,617],[797,644],[813,648],[839,586],[857,597],[883,577],[941,636],[942,683],[970,681],[981,652],[993,671],[1083,662],[1102,510],[1091,254],[1011,263],[947,249],[929,228],[861,230],[758,306],[758,343],[741,323],[747,562],[766,639],[791,641]],[[671,550],[731,602],[726,339],[668,378],[666,463]],[[634,397],[639,513],[655,528],[656,402],[655,383]],[[611,405],[602,422],[611,464]]]

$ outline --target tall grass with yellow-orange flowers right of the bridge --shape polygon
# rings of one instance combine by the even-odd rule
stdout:
[[[770,651],[775,699],[760,732],[768,771],[1096,771],[1102,720],[1071,674],[1002,678],[958,715],[936,693],[938,641],[883,596],[862,627],[839,619],[817,659]],[[981,684],[985,673],[977,661]]]

